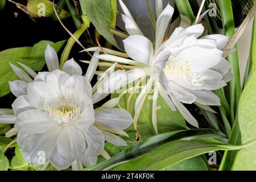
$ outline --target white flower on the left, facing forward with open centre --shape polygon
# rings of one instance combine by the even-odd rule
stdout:
[[[91,166],[102,154],[105,140],[117,146],[126,145],[115,134],[127,135],[123,130],[131,125],[131,114],[110,108],[116,105],[116,100],[97,110],[93,107],[90,81],[98,54],[96,51],[92,57],[86,76],[82,76],[82,69],[73,59],[60,71],[56,52],[49,45],[45,57],[51,72],[36,75],[23,66],[35,76],[34,81],[11,64],[23,81],[10,82],[11,92],[17,96],[12,105],[15,115],[0,117],[3,122],[15,123],[17,142],[26,162],[36,164],[42,151],[46,160],[58,169],[66,169],[79,161]]]

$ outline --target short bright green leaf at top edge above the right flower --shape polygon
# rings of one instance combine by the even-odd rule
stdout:
[[[188,16],[191,22],[194,22],[194,20],[196,20],[188,0],[175,0],[175,4],[180,14]]]

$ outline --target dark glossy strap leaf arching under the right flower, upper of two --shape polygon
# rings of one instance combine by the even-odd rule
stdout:
[[[181,130],[172,131],[170,133],[164,133],[156,135],[155,137],[148,138],[143,142],[139,142],[130,146],[124,151],[119,152],[118,150],[112,150],[112,152],[117,152],[119,154],[113,156],[111,159],[105,160],[95,166],[85,168],[86,170],[103,170],[112,166],[116,163],[123,162],[125,160],[135,159],[141,155],[147,154],[148,152],[154,150],[155,148],[161,146],[162,144],[168,143],[170,141],[179,140],[182,138],[217,138],[223,139],[223,135],[214,130],[208,129],[196,129],[196,130]],[[111,154],[110,154],[111,155]]]

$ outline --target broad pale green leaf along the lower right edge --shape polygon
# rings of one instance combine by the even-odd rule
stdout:
[[[238,122],[242,144],[256,140],[256,74],[253,73],[243,90],[238,107]],[[241,149],[234,161],[233,170],[256,170],[256,142]]]

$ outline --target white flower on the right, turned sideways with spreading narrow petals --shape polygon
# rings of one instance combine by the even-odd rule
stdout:
[[[125,27],[130,34],[123,41],[124,48],[132,60],[113,55],[98,57],[105,61],[117,61],[137,67],[127,72],[117,71],[112,81],[120,77],[120,74],[128,75],[128,81],[123,80],[123,84],[119,81],[118,86],[150,76],[150,80],[135,103],[135,128],[145,97],[153,85],[155,98],[160,94],[172,110],[175,110],[176,106],[186,121],[198,127],[196,119],[181,102],[220,105],[220,99],[212,90],[224,87],[232,78],[229,73],[231,65],[222,57],[224,52],[221,51],[226,46],[228,38],[224,35],[208,35],[200,38],[204,27],[202,24],[196,24],[187,28],[176,28],[170,38],[162,42],[174,11],[172,6],[167,5],[156,22],[154,48],[151,41],[141,34],[124,3],[121,0],[119,2],[125,13],[123,15]],[[111,87],[111,85],[104,85],[104,87],[107,86]],[[92,97],[97,100],[106,95],[94,93]],[[157,132],[156,101],[153,101],[152,108],[152,122]]]

